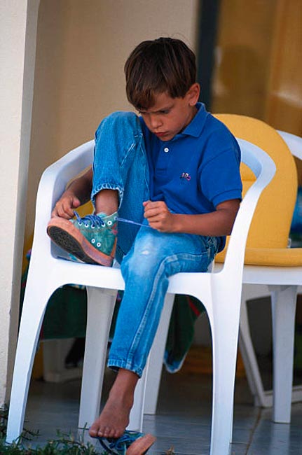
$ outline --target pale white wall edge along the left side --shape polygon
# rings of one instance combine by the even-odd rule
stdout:
[[[0,2],[0,405],[18,327],[38,6]]]

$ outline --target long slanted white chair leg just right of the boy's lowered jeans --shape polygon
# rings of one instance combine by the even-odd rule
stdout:
[[[174,294],[167,294],[163,313],[160,316],[160,323],[156,332],[152,349],[149,356],[149,369],[146,376],[146,397],[144,404],[144,414],[156,414],[160,377],[163,367],[163,356],[167,332],[169,330],[170,318],[174,303]]]

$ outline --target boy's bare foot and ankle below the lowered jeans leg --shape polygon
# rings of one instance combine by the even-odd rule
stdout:
[[[133,405],[137,374],[129,370],[118,370],[107,403],[97,420],[90,426],[91,437],[121,437],[129,423]]]

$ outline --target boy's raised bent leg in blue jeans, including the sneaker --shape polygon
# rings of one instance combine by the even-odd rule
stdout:
[[[139,119],[118,112],[105,118],[95,134],[92,202],[97,214],[72,221],[52,218],[48,235],[84,262],[111,265],[116,246],[116,209],[121,218],[142,222],[142,202],[148,199],[149,169]],[[107,215],[107,216],[105,216]],[[132,246],[137,227],[119,223],[116,257]]]

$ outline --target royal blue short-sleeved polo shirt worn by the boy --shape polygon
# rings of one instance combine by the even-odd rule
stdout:
[[[150,169],[150,199],[177,214],[206,214],[240,199],[240,148],[233,134],[202,103],[191,123],[160,141],[140,118]],[[221,248],[225,237],[221,237]]]

